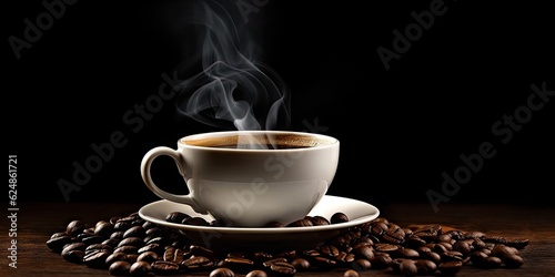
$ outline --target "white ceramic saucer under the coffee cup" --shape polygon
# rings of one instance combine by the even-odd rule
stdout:
[[[212,249],[307,249],[380,215],[376,207],[365,202],[332,195],[325,195],[309,215],[330,219],[333,214],[341,212],[349,217],[349,222],[309,227],[251,228],[193,226],[165,220],[168,214],[178,211],[203,217],[208,222],[214,220],[211,215],[198,214],[188,205],[165,199],[144,205],[139,209],[139,215],[145,220],[176,229],[198,245]]]

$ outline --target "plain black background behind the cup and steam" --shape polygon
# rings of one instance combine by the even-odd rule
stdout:
[[[442,173],[453,176],[464,166],[461,155],[490,142],[495,156],[440,208],[450,203],[554,205],[555,96],[507,143],[492,133],[504,115],[526,106],[532,84],[555,91],[549,6],[446,0],[444,14],[435,16],[386,70],[376,49],[393,50],[393,31],[404,33],[416,22],[411,12],[428,11],[438,1],[243,0],[228,7],[238,2],[256,8],[248,22],[235,20],[246,28],[240,35],[251,35],[262,50],[258,59],[286,83],[290,129],[341,141],[329,194],[377,206],[428,203],[426,192],[442,193]],[[173,100],[137,133],[123,121],[134,105],[158,94],[162,74],[192,61],[200,42],[183,24],[190,14],[199,16],[190,3],[65,4],[18,59],[10,38],[24,39],[24,20],[36,22],[46,8],[41,1],[4,2],[3,137],[6,154],[18,155],[20,203],[157,201],[140,176],[144,153],[175,147],[188,134],[221,130],[179,116]],[[95,154],[91,144],[110,142],[113,132],[122,132],[127,144],[64,198],[59,181],[72,182],[73,164],[82,165]],[[160,171],[171,166],[165,181],[184,193],[172,162],[157,164]]]

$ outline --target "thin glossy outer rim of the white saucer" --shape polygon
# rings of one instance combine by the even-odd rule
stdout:
[[[330,225],[319,225],[319,226],[304,226],[304,227],[221,227],[221,226],[196,226],[196,225],[184,225],[184,224],[176,224],[176,223],[170,223],[167,222],[165,219],[161,219],[158,217],[150,216],[145,214],[145,211],[149,208],[152,208],[153,206],[157,205],[167,205],[165,203],[170,205],[185,205],[186,204],[179,204],[174,203],[168,199],[160,199],[155,202],[151,202],[149,204],[145,204],[139,209],[139,216],[143,218],[144,220],[152,222],[154,224],[159,224],[169,228],[173,229],[180,229],[184,232],[204,232],[204,233],[220,233],[220,234],[240,234],[240,235],[248,235],[248,234],[294,234],[294,233],[309,233],[309,232],[327,232],[327,230],[336,230],[336,229],[345,229],[354,226],[359,226],[361,224],[367,223],[370,220],[373,220],[380,216],[380,209],[366,202],[360,201],[360,199],[354,199],[354,198],[349,198],[349,197],[342,197],[342,196],[336,196],[336,195],[324,195],[324,198],[337,198],[337,199],[343,199],[343,201],[350,201],[350,202],[356,202],[360,205],[366,205],[367,208],[372,209],[372,213],[367,213],[366,215],[360,216],[354,219],[350,219],[349,222],[345,223],[336,223],[336,224],[330,224]],[[313,209],[314,211],[314,209]],[[309,215],[313,213],[311,211]],[[196,214],[200,216],[211,216],[211,215],[202,215],[202,214]]]

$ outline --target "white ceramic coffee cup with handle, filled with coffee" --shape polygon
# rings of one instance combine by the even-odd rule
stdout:
[[[339,154],[339,140],[322,134],[210,132],[180,138],[176,150],[152,148],[141,174],[159,197],[210,213],[225,226],[286,225],[303,218],[326,194]],[[175,161],[189,194],[175,195],[154,184],[151,165],[161,155]]]

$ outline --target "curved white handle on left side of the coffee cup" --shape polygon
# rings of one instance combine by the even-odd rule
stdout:
[[[152,181],[152,175],[151,175],[151,166],[154,160],[159,156],[167,155],[173,158],[175,162],[175,165],[178,166],[179,173],[183,176],[185,173],[183,172],[184,166],[182,166],[182,160],[181,160],[181,154],[167,146],[158,146],[144,154],[142,162],[141,162],[141,176],[144,182],[144,184],[159,197],[171,201],[171,202],[176,202],[181,204],[186,204],[191,206],[196,213],[200,214],[208,214],[208,212],[200,207],[191,197],[191,193],[185,194],[185,195],[176,195],[172,193],[168,193],[164,189],[160,188],[157,184],[154,184],[154,181]]]

